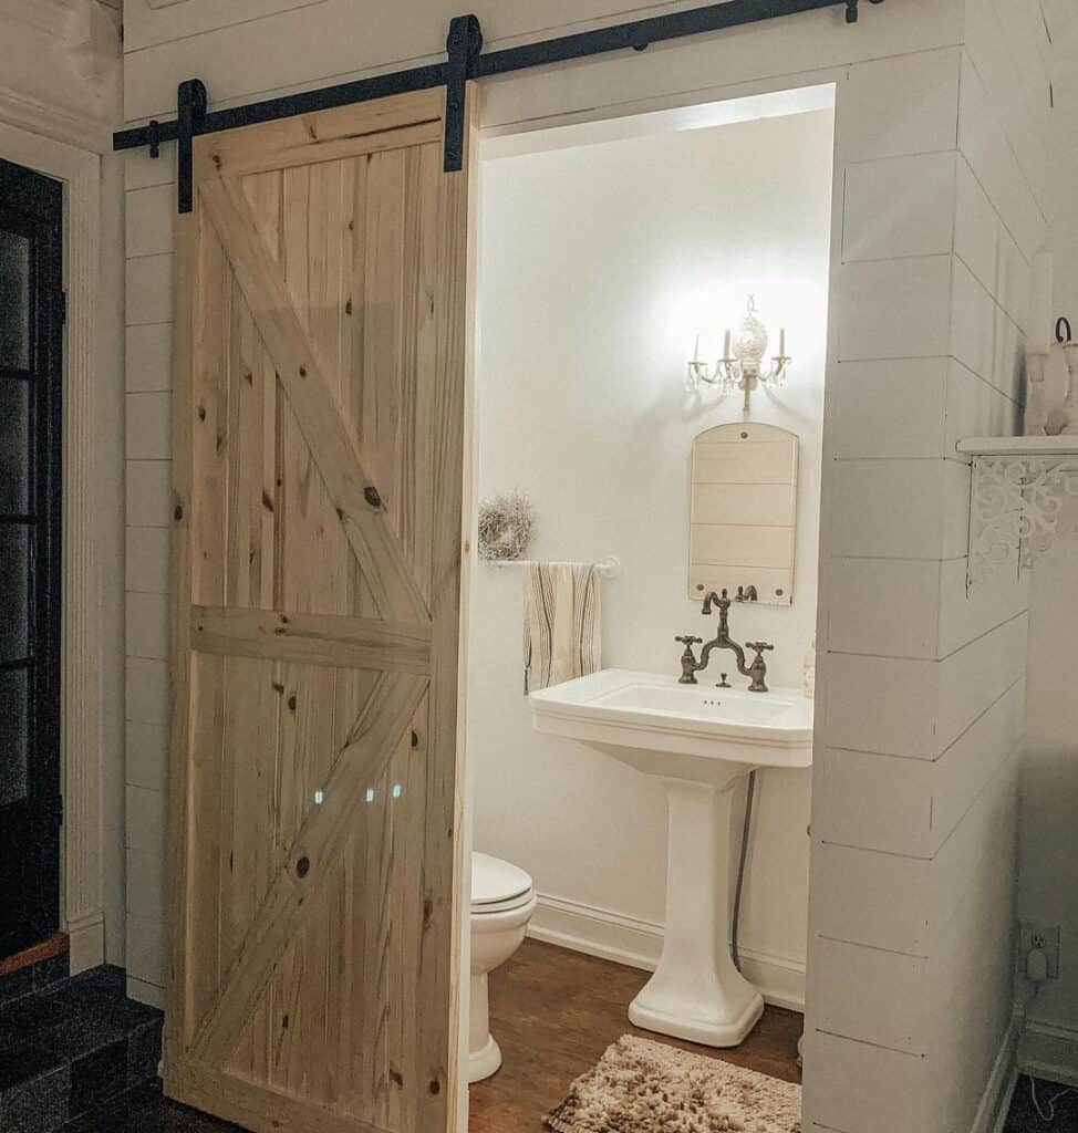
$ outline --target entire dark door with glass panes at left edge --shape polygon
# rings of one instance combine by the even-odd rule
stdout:
[[[0,957],[60,918],[62,219],[0,161]]]

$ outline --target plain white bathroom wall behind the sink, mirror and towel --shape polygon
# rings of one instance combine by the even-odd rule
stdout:
[[[817,110],[483,162],[478,489],[530,495],[529,555],[621,560],[623,574],[604,585],[606,666],[676,674],[674,634],[714,636],[715,619],[687,596],[689,451],[698,433],[741,419],[741,395],[687,393],[685,360],[698,330],[702,350],[721,351],[723,326],[737,325],[753,291],[796,355],[787,389],[757,392],[750,418],[800,436],[796,585],[792,607],[736,606],[731,628],[738,640],[774,642],[774,687],[800,687],[816,631],[832,150],[833,112]],[[533,875],[538,929],[593,948],[617,932],[637,962],[654,961],[662,787],[532,729],[521,581],[520,569],[476,570],[476,847]],[[729,654],[711,668],[711,681],[733,670],[745,683]],[[804,999],[809,780],[762,774],[745,892],[749,966],[770,957],[764,985],[787,1002]]]

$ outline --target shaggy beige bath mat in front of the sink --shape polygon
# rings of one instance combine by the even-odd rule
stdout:
[[[554,1133],[797,1133],[801,1088],[623,1034],[546,1117]]]

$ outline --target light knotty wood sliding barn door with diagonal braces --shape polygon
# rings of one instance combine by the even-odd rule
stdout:
[[[455,1116],[470,267],[444,101],[198,138],[179,221],[165,1088],[257,1131]]]

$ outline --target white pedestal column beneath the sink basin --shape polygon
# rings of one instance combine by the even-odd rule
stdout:
[[[629,1006],[636,1026],[736,1047],[764,1000],[730,957],[730,803],[723,786],[664,780],[669,815],[667,931],[655,974]]]

